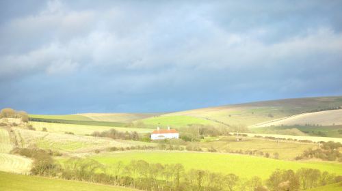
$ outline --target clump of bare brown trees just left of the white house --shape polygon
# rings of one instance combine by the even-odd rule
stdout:
[[[124,139],[124,140],[133,140],[138,141],[140,139],[139,134],[137,132],[120,132],[118,130],[107,130],[104,132],[93,132],[92,136],[99,136],[99,137],[109,137],[113,139]]]

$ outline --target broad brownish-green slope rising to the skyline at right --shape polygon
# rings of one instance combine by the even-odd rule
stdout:
[[[289,117],[315,109],[342,106],[342,96],[321,98],[298,98],[251,102],[211,108],[199,108],[189,111],[168,113],[161,116],[185,115],[212,121],[220,121],[229,125],[250,126],[272,119]],[[268,117],[272,114],[274,117]]]

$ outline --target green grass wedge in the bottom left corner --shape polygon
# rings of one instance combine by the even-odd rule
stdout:
[[[15,175],[0,172],[0,190],[2,191],[119,191],[135,190],[116,186],[105,186],[95,183],[80,181],[67,181],[61,179],[49,179],[28,175]]]

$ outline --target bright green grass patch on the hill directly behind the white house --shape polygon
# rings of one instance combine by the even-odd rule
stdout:
[[[171,128],[181,128],[194,123],[202,125],[215,124],[215,122],[213,121],[185,115],[150,117],[142,119],[141,121],[146,125],[154,127],[159,126],[161,128],[166,128],[167,126],[170,126]]]

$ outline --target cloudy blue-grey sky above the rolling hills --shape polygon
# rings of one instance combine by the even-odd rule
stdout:
[[[342,95],[342,1],[0,1],[0,108],[155,113]]]

